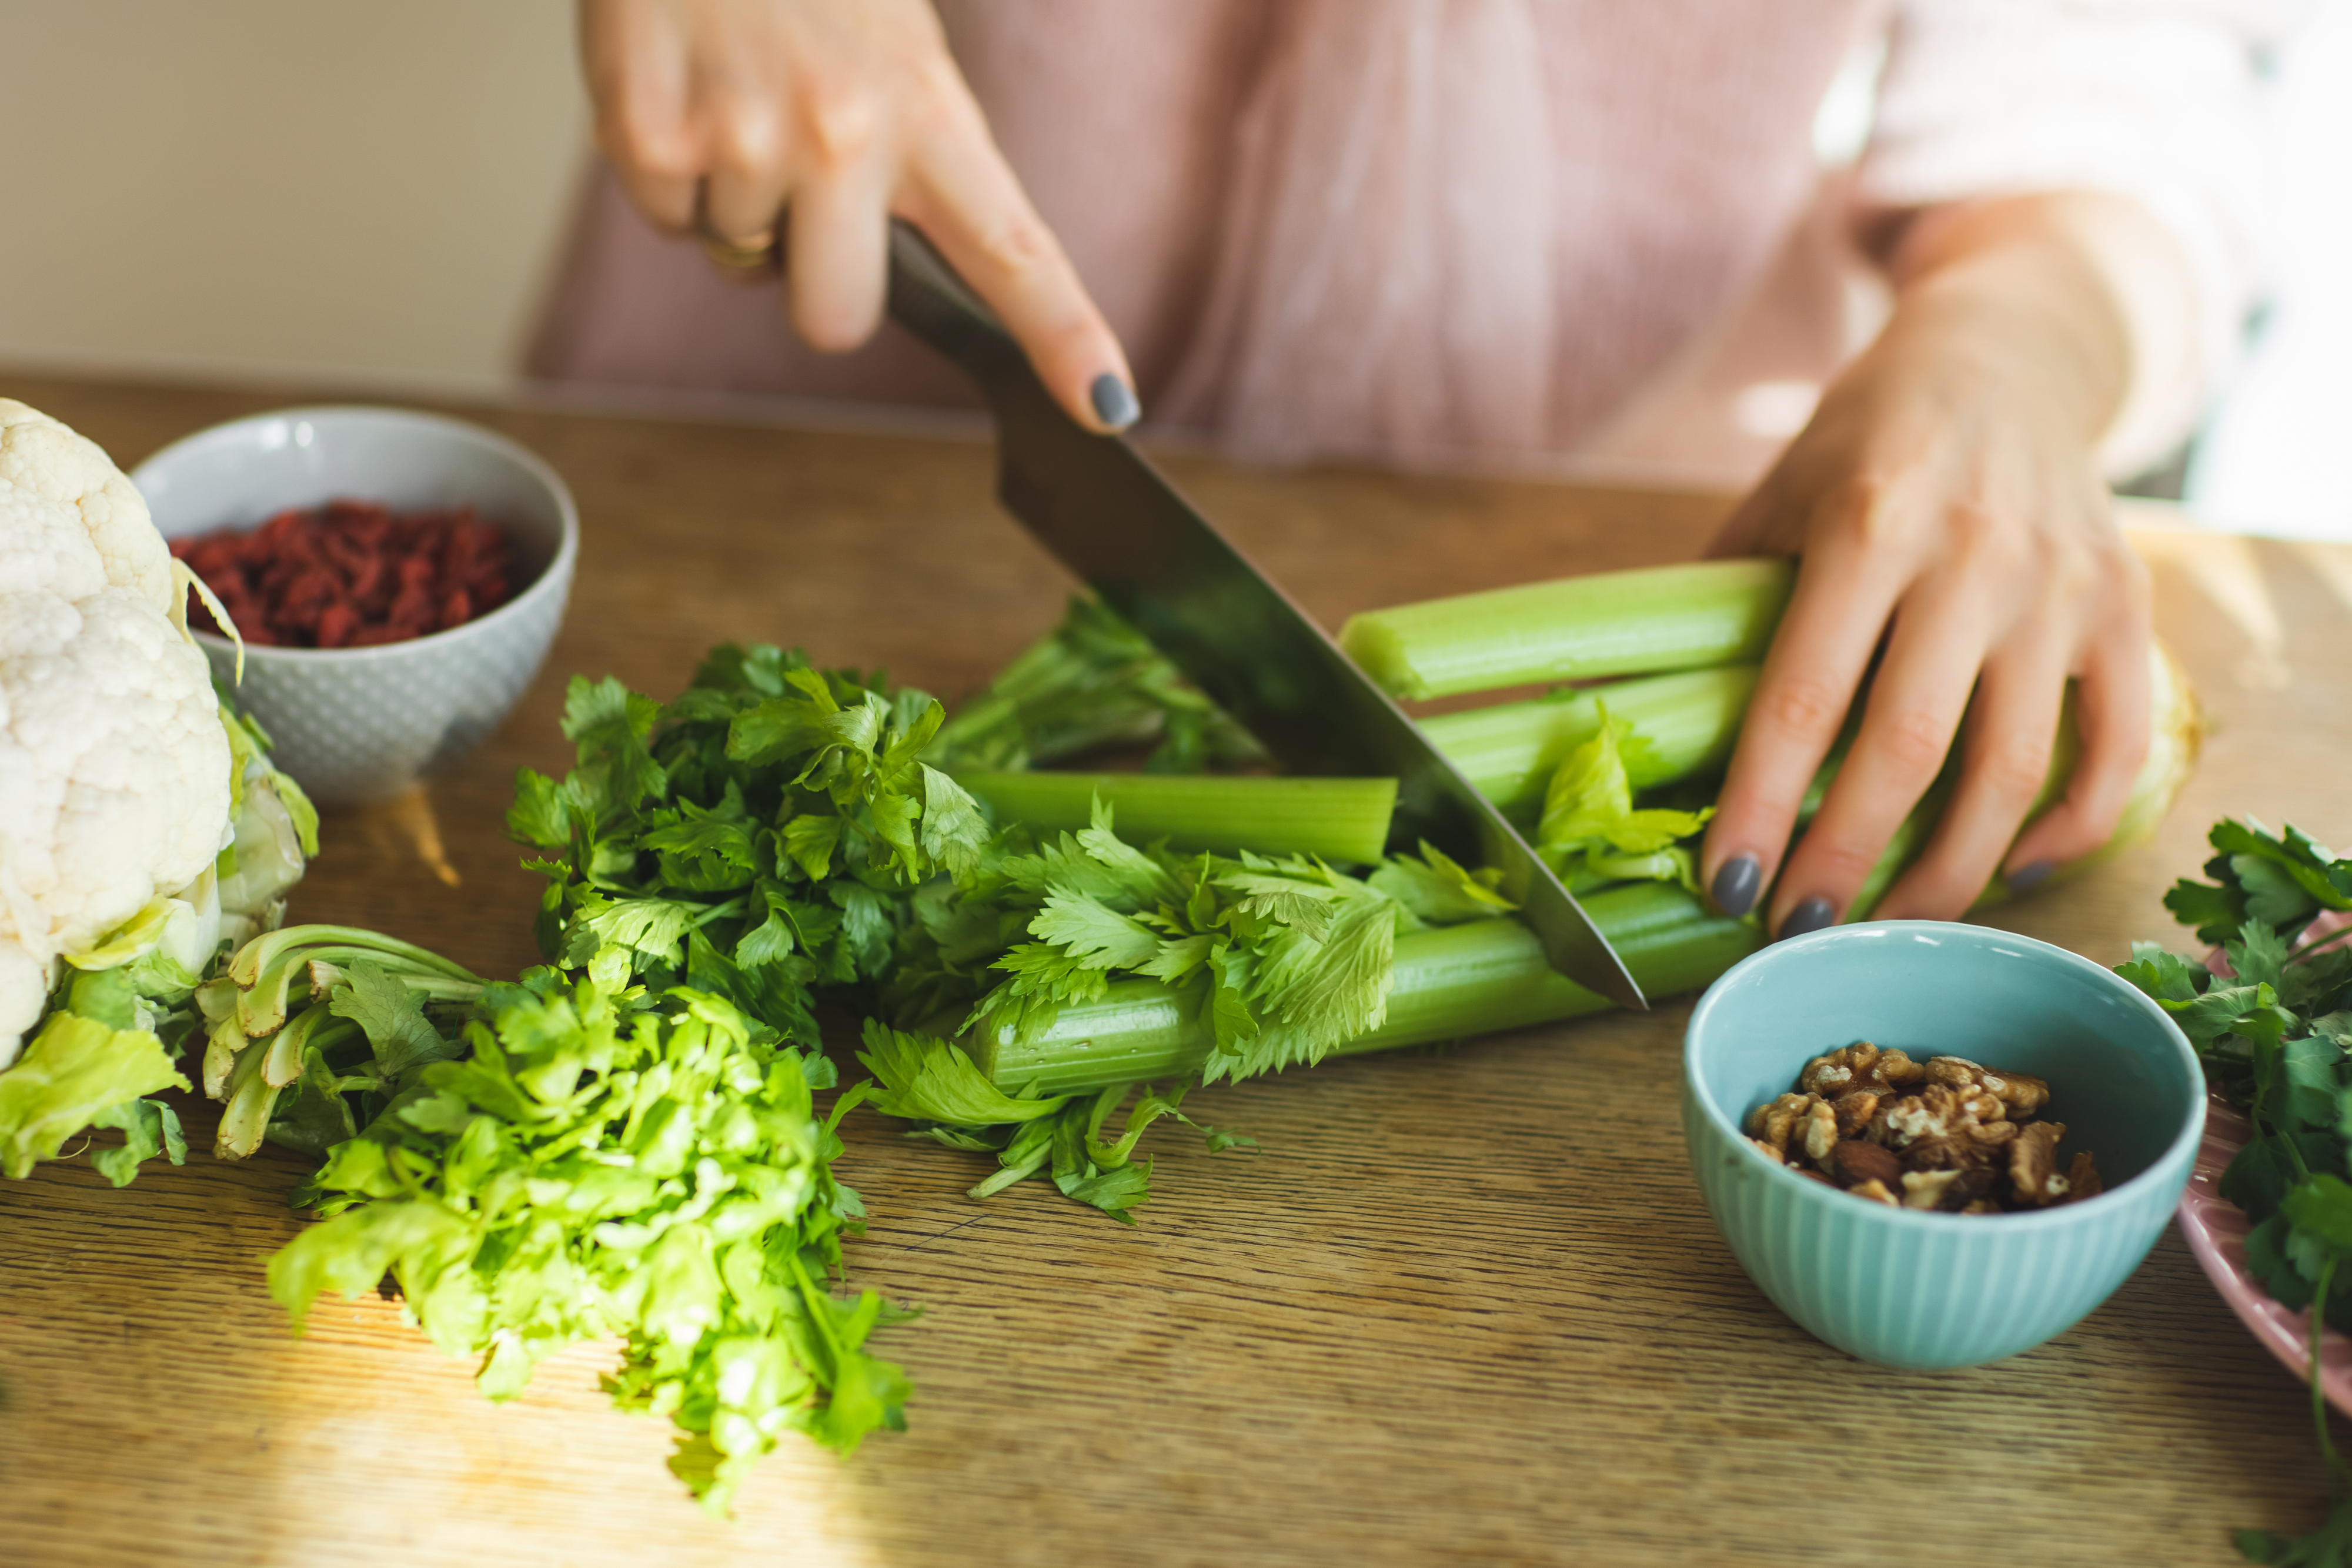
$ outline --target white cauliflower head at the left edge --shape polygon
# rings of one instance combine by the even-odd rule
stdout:
[[[172,595],[132,482],[0,400],[0,1067],[61,954],[221,851],[228,738]]]

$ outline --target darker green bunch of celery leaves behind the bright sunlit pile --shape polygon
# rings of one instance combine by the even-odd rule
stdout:
[[[814,1048],[811,987],[877,980],[906,898],[969,872],[974,799],[924,762],[946,710],[795,649],[720,646],[673,703],[574,677],[562,778],[508,830],[555,851],[541,950],[600,983],[691,985]]]

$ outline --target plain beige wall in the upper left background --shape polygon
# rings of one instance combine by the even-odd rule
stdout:
[[[0,0],[0,369],[492,390],[586,146],[562,0]]]

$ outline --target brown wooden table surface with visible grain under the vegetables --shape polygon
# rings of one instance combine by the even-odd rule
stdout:
[[[129,468],[294,395],[0,378]],[[572,672],[675,691],[720,639],[887,665],[955,696],[1068,581],[990,501],[983,444],[461,409],[581,503],[548,670],[419,816],[329,811],[296,919],[485,973],[536,959],[501,837],[560,769]],[[1703,496],[1169,463],[1327,625],[1348,611],[1686,555]],[[2213,717],[2157,842],[2004,914],[2100,961],[2180,936],[2157,903],[2220,813],[2352,837],[2352,555],[2157,538],[2161,628]],[[0,1561],[52,1563],[2227,1563],[2324,1481],[2300,1387],[2176,1234],[2025,1356],[1891,1373],[1776,1312],[1708,1222],[1675,1121],[1689,1004],[1214,1093],[1263,1140],[1164,1138],[1122,1229],[851,1117],[854,1279],[910,1432],[767,1460],[731,1523],[612,1410],[609,1347],[489,1406],[393,1302],[287,1335],[261,1258],[301,1161],[191,1157],[127,1190],[80,1161],[0,1185]],[[209,1112],[191,1131],[209,1145]]]

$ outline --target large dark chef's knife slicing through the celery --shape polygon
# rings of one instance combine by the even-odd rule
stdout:
[[[1649,1006],[1592,917],[1444,752],[1207,517],[1115,435],[1047,395],[962,277],[891,223],[889,313],[955,360],[997,418],[997,491],[1061,564],[1294,773],[1395,776],[1395,835],[1503,870],[1503,891],[1552,969],[1623,1006]]]

